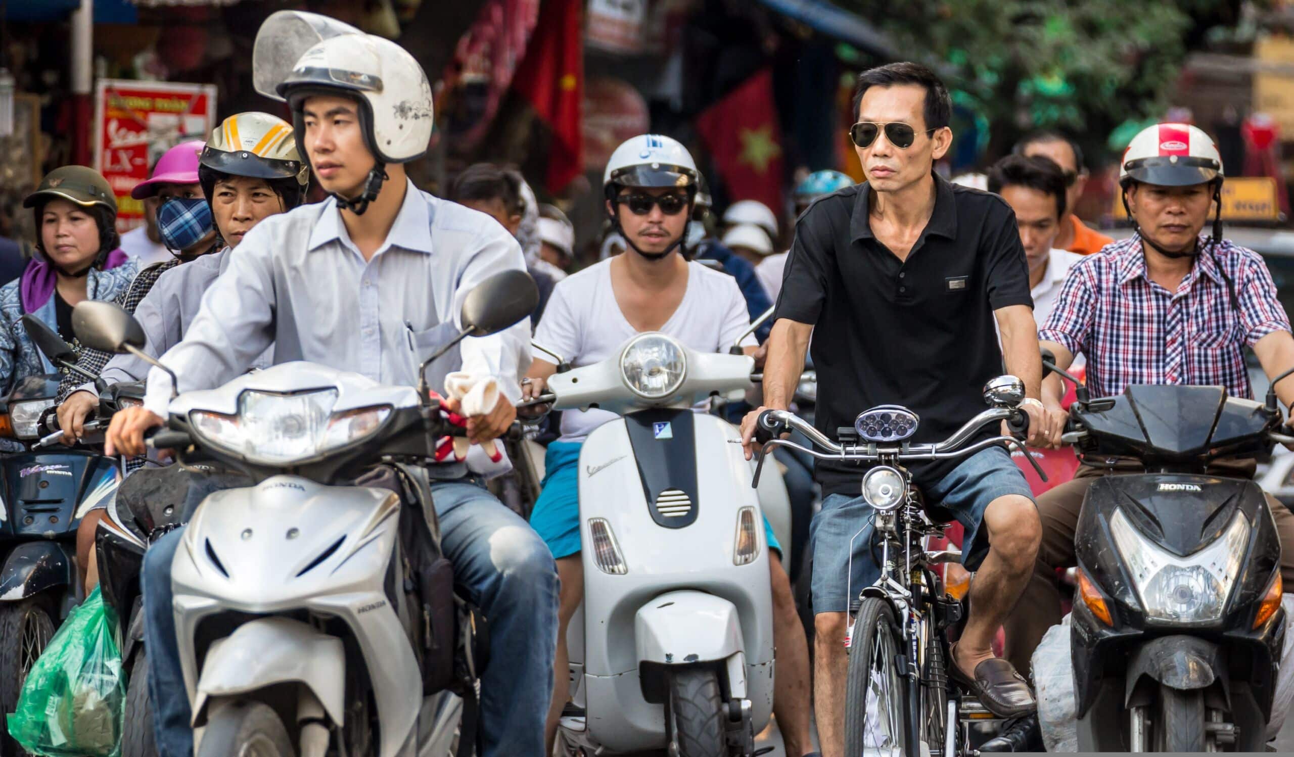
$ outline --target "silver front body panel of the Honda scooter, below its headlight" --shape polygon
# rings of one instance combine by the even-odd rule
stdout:
[[[378,754],[395,757],[423,704],[418,661],[384,589],[400,506],[384,489],[286,475],[208,496],[172,563],[189,700],[197,697],[194,641],[204,617],[296,609],[333,616],[353,630],[367,665],[382,729]],[[198,713],[195,725],[203,725]]]

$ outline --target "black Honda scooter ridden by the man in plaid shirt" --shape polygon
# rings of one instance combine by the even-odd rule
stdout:
[[[1271,392],[1260,404],[1130,386],[1090,400],[1079,387],[1065,440],[1090,463],[1145,466],[1093,483],[1075,531],[1079,752],[1264,751],[1285,634],[1280,540],[1256,483],[1207,470],[1294,441],[1281,421]]]

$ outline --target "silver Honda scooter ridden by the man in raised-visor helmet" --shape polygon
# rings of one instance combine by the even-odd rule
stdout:
[[[524,272],[481,282],[463,300],[463,331],[423,370],[458,339],[525,317],[536,300]],[[82,303],[72,320],[83,343],[148,358],[142,330],[115,304]],[[410,590],[424,575],[404,559],[401,521],[423,514],[388,488],[334,485],[373,463],[432,457],[453,431],[427,397],[424,386],[289,362],[172,400],[168,428],[150,445],[193,450],[181,462],[206,455],[259,481],[207,497],[175,556],[197,757],[445,757],[471,748],[459,732],[462,700],[428,692],[419,664],[443,660],[437,648],[458,650],[454,670],[480,664],[452,576],[448,597]],[[433,516],[427,525],[439,538]],[[457,682],[467,692],[476,686]]]

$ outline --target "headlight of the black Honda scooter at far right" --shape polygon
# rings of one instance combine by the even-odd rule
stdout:
[[[1114,546],[1152,622],[1194,624],[1222,617],[1245,559],[1249,528],[1249,520],[1237,512],[1222,536],[1179,558],[1144,538],[1122,507],[1110,518]]]

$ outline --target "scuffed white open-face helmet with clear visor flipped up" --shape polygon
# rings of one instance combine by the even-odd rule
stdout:
[[[369,151],[382,163],[419,158],[431,141],[431,83],[418,61],[391,40],[326,16],[270,14],[256,32],[252,82],[256,92],[291,106],[302,136],[305,97],[353,97]]]

